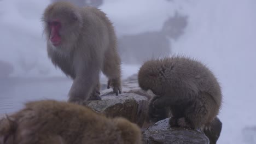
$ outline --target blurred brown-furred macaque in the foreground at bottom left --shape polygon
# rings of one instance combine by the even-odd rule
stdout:
[[[0,143],[141,143],[141,130],[125,118],[106,118],[87,107],[54,100],[33,101],[0,120]]]

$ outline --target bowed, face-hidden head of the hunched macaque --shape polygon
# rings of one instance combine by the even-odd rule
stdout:
[[[139,87],[144,91],[150,89],[155,95],[161,95],[165,89],[165,72],[161,60],[145,62],[138,72]]]

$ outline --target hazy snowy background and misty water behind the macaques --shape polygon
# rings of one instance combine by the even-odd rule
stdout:
[[[0,114],[27,100],[66,100],[72,81],[46,55],[44,8],[51,1],[0,0]],[[160,55],[195,57],[222,85],[218,143],[256,143],[255,0],[95,0],[114,22],[123,77]],[[104,79],[104,76],[102,76]]]

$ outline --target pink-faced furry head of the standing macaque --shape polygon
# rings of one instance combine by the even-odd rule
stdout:
[[[83,25],[79,8],[68,2],[49,5],[44,11],[42,21],[48,43],[58,49],[75,44]]]

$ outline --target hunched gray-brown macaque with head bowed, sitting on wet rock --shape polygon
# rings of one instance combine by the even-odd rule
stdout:
[[[222,92],[211,70],[187,57],[173,56],[144,63],[138,83],[156,95],[150,101],[149,116],[158,117],[155,109],[169,107],[171,127],[197,129],[211,125],[222,104]]]

